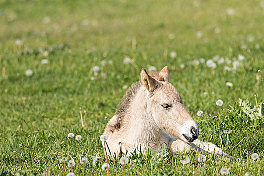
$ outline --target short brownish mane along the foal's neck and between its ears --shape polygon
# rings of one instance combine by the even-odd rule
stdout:
[[[156,72],[151,73],[150,76],[157,79],[157,80],[163,81],[163,79],[161,77],[159,77],[158,73],[156,73]],[[116,122],[112,125],[112,127],[114,129],[120,128],[123,117],[125,116],[127,110],[129,109],[128,107],[131,106],[131,102],[133,101],[133,98],[137,94],[141,85],[142,84],[140,81],[133,83],[129,87],[129,89],[126,91],[126,94],[124,95],[124,97],[118,103],[117,108],[116,108],[116,112],[115,112]]]

